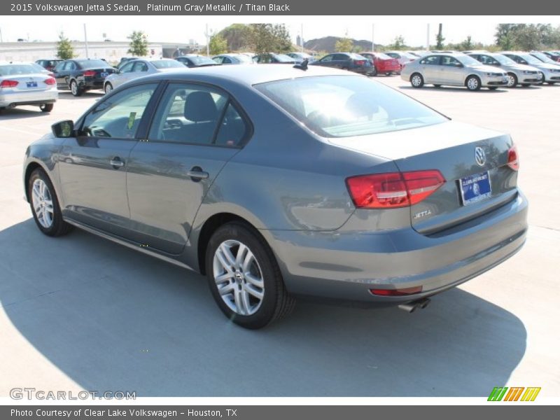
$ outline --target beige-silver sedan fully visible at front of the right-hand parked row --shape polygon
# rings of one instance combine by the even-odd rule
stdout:
[[[416,59],[405,64],[400,77],[410,82],[412,87],[422,87],[426,83],[435,87],[465,86],[468,90],[479,90],[481,87],[493,90],[507,86],[504,71],[485,66],[461,52],[429,54]]]

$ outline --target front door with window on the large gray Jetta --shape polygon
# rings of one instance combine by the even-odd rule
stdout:
[[[65,216],[126,237],[128,158],[157,87],[125,88],[101,99],[76,123],[76,137],[66,139],[58,156]]]

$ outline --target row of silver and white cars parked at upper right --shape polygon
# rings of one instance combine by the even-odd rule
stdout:
[[[540,51],[431,52],[405,64],[401,78],[416,88],[426,84],[468,90],[554,85],[560,83],[560,62]]]

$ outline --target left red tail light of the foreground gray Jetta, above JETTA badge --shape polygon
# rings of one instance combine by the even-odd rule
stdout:
[[[359,175],[346,179],[350,197],[360,209],[388,209],[419,203],[445,183],[435,170]]]

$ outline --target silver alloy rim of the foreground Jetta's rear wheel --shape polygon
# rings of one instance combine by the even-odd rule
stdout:
[[[251,249],[230,239],[214,253],[214,281],[223,302],[239,315],[253,315],[265,296],[265,281]]]

